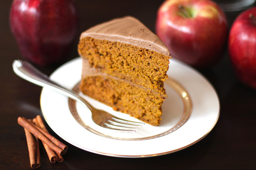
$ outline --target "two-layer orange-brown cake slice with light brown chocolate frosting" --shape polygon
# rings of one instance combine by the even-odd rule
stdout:
[[[78,53],[84,94],[148,124],[160,123],[171,56],[158,36],[126,16],[83,32]]]

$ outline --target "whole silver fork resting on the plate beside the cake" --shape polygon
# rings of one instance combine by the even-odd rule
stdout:
[[[53,90],[60,92],[89,108],[92,112],[92,120],[99,126],[104,128],[109,128],[112,130],[117,130],[120,132],[136,132],[138,127],[141,127],[145,123],[141,122],[132,122],[124,119],[117,118],[104,110],[98,110],[94,108],[89,102],[84,98],[79,96],[78,93],[73,90],[69,90],[60,84],[51,80],[48,76],[40,72],[37,68],[32,66],[29,62],[23,60],[14,60],[12,63],[13,71],[28,82],[32,82],[38,86],[50,87]]]

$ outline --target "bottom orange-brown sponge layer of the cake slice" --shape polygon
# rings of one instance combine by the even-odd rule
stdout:
[[[160,123],[164,98],[152,90],[109,76],[88,76],[81,81],[80,89],[114,110],[130,114],[153,126]]]

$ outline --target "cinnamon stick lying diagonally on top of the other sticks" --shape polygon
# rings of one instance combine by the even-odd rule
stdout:
[[[44,134],[42,134],[42,132],[40,132],[40,130],[37,129],[38,127],[35,124],[28,122],[28,120],[26,120],[26,118],[19,117],[18,124],[20,124],[20,126],[26,128],[30,133],[32,133],[34,136],[39,138],[45,144],[47,144],[57,154],[63,155],[66,152],[66,151],[62,150],[61,148],[59,148],[58,146],[56,146],[51,140],[49,140]],[[42,130],[42,131],[44,131],[44,130]],[[47,133],[47,132],[45,132],[45,133]]]

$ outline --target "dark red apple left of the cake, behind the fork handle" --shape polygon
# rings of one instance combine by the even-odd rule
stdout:
[[[73,0],[14,0],[10,26],[22,56],[46,66],[62,61],[78,31]]]

